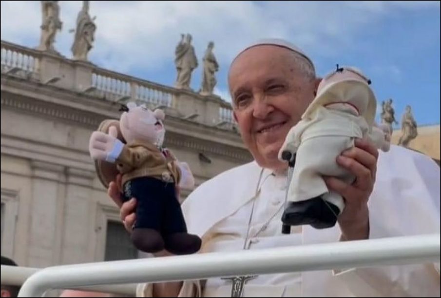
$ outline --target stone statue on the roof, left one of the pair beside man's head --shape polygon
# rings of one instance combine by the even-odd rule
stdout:
[[[185,35],[184,40],[184,35],[181,34],[181,41],[178,43],[174,51],[174,64],[176,65],[177,70],[176,88],[190,89],[192,71],[197,67],[196,54],[194,53],[194,48],[191,42],[192,35]]]

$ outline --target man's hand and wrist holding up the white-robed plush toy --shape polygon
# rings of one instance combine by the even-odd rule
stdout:
[[[352,184],[334,177],[325,177],[327,187],[343,196],[345,209],[338,217],[342,240],[369,237],[367,201],[374,188],[378,150],[367,140],[355,140],[355,147],[337,158],[337,163],[356,176]]]

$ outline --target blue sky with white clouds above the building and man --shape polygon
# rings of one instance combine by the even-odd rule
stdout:
[[[60,1],[63,30],[56,48],[67,57],[81,1]],[[1,39],[35,47],[40,1],[1,1]],[[397,119],[412,105],[420,125],[440,123],[439,1],[91,1],[98,66],[173,85],[174,47],[191,33],[201,58],[210,40],[220,64],[216,93],[229,100],[227,70],[234,55],[262,37],[282,37],[308,53],[319,75],[336,63],[362,69],[379,105],[393,98]],[[192,88],[200,87],[201,68]]]

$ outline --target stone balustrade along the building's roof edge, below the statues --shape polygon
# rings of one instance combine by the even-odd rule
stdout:
[[[185,119],[197,113],[204,115],[195,117],[197,122],[224,129],[234,127],[231,105],[219,98],[205,98],[191,91],[156,84],[6,41],[1,41],[1,73],[87,92],[111,102],[126,103],[132,100],[138,104],[145,103],[150,108],[171,107]]]

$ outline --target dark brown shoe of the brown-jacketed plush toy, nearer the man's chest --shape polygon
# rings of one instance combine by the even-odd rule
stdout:
[[[175,255],[188,255],[201,248],[201,239],[188,233],[175,233],[164,236],[165,249]]]

